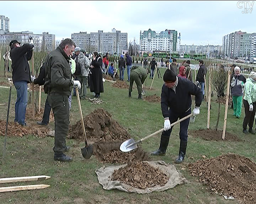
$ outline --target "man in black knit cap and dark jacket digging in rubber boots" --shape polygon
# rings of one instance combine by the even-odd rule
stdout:
[[[191,81],[177,77],[176,74],[167,69],[164,73],[164,82],[161,93],[161,109],[164,117],[164,131],[161,135],[160,147],[151,155],[164,155],[169,144],[172,127],[178,118],[184,118],[191,113],[191,95],[196,96],[196,107],[194,115],[199,114],[202,103],[202,91]],[[180,150],[175,163],[182,163],[187,149],[187,130],[190,118],[180,123]]]

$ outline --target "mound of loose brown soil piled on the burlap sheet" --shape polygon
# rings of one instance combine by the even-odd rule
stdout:
[[[139,189],[164,186],[168,177],[159,168],[154,168],[147,162],[133,162],[123,168],[115,170],[112,180],[121,181]]]

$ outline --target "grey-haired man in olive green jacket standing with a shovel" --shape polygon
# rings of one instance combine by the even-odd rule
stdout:
[[[68,98],[72,87],[81,88],[77,80],[72,80],[70,68],[70,55],[75,49],[71,39],[65,39],[56,50],[46,57],[46,82],[44,92],[48,94],[48,101],[52,106],[55,119],[54,160],[68,162],[72,158],[63,154],[70,147],[65,145],[69,129],[69,103]]]

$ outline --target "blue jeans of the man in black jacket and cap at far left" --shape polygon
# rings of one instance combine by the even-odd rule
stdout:
[[[24,125],[27,107],[27,81],[17,81],[14,86],[17,90],[14,121]]]

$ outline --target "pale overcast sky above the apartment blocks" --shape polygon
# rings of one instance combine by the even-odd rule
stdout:
[[[10,32],[49,32],[55,39],[71,33],[128,33],[128,43],[144,30],[177,30],[181,45],[222,45],[223,35],[256,32],[256,3],[242,13],[242,1],[0,1],[0,15],[10,18]],[[243,1],[245,2],[245,1]],[[247,4],[247,8],[250,8]],[[245,11],[246,12],[246,11]]]

